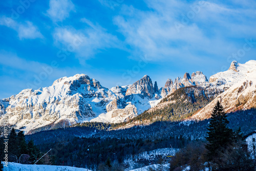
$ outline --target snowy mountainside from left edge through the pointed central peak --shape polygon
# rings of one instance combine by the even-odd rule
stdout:
[[[144,76],[130,86],[109,90],[77,74],[0,100],[0,114],[7,114],[9,124],[25,132],[57,123],[61,127],[85,121],[122,122],[158,103],[152,85],[150,77]]]

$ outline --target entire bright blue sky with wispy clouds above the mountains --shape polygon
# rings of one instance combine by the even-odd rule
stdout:
[[[255,1],[0,2],[0,99],[87,74],[111,88],[256,59]]]

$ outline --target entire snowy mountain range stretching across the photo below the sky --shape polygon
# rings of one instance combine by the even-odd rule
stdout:
[[[9,124],[25,132],[49,124],[67,126],[87,121],[118,123],[157,106],[162,98],[180,88],[197,86],[207,91],[224,92],[191,117],[202,119],[209,117],[206,113],[218,99],[227,110],[255,106],[255,83],[256,60],[245,64],[233,61],[228,71],[212,75],[209,81],[200,71],[191,76],[185,73],[183,78],[177,77],[175,81],[167,79],[160,89],[157,82],[153,84],[147,75],[131,85],[108,89],[88,75],[77,74],[59,78],[50,87],[25,89],[0,100],[0,121],[3,123],[5,114],[9,117]]]

